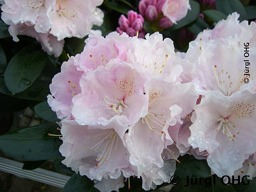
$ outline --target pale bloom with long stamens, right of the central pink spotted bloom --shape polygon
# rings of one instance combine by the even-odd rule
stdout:
[[[167,131],[168,125],[181,123],[181,118],[193,110],[198,95],[194,86],[188,83],[174,85],[153,79],[147,86],[148,114],[129,129],[127,149],[131,154],[132,165],[146,167],[154,163],[162,167],[161,153],[173,143]]]

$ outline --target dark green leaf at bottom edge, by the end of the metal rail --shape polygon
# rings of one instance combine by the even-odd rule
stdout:
[[[61,192],[89,192],[93,189],[93,181],[79,173],[73,174]]]

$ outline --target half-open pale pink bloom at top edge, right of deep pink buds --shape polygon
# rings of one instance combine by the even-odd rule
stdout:
[[[187,15],[191,7],[188,0],[166,0],[162,12],[171,22],[177,23],[180,19]]]

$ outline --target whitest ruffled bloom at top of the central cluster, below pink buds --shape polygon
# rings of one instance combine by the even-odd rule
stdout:
[[[137,51],[129,55],[128,62],[141,73],[146,73],[149,79],[160,77],[167,82],[182,81],[180,74],[183,61],[175,54],[173,41],[170,38],[163,39],[163,35],[158,32],[147,34],[145,38],[134,43]]]

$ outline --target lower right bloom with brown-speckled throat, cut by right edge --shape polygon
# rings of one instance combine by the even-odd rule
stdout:
[[[233,175],[245,156],[256,151],[255,98],[255,92],[247,90],[230,96],[212,91],[194,107],[196,120],[188,141],[199,151],[207,150],[207,162],[219,177]]]

